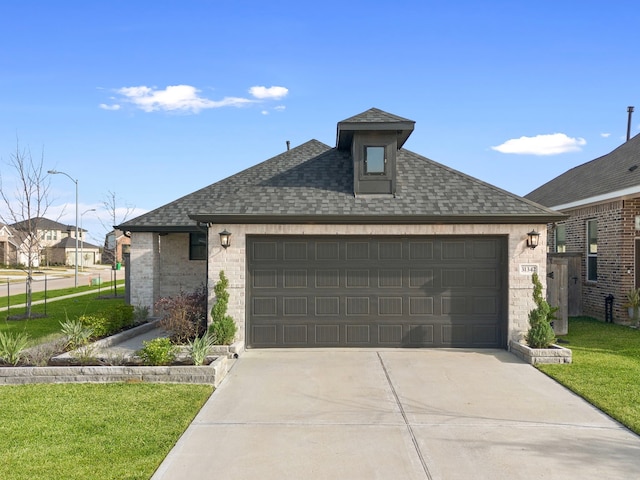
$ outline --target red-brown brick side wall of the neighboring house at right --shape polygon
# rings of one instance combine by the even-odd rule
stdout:
[[[613,295],[613,319],[628,320],[627,292],[635,288],[635,242],[640,232],[635,217],[640,215],[640,198],[619,199],[607,203],[563,210],[570,218],[565,225],[567,253],[582,255],[579,281],[582,282],[582,314],[604,320],[605,298]],[[598,222],[597,281],[587,280],[587,221]],[[555,229],[549,228],[550,251],[555,245]]]

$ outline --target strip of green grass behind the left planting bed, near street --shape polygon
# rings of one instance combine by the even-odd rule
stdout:
[[[74,290],[75,291],[75,290]],[[118,287],[119,295],[124,293],[123,287]],[[0,331],[26,332],[29,335],[30,345],[43,341],[49,341],[60,333],[60,322],[76,319],[83,314],[95,314],[108,310],[110,306],[124,303],[123,298],[100,298],[103,295],[113,294],[113,289],[102,290],[101,294],[91,293],[64,300],[47,302],[45,318],[31,318],[28,320],[7,320],[7,312],[0,312]],[[44,305],[33,305],[32,313],[44,313]],[[9,315],[24,313],[24,308],[11,309]]]

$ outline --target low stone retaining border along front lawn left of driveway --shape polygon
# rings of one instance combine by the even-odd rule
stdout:
[[[159,382],[200,383],[217,387],[229,371],[226,356],[206,366],[84,366],[84,367],[2,367],[0,385],[32,383]]]

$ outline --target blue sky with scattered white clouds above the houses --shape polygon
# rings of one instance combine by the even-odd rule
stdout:
[[[624,142],[639,17],[632,1],[6,0],[0,173],[6,188],[19,141],[77,178],[102,243],[109,192],[144,213],[287,140],[334,146],[338,121],[377,107],[416,121],[405,148],[525,195]],[[74,223],[73,183],[50,180],[47,216]]]

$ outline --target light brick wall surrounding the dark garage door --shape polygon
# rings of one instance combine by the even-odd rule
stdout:
[[[238,339],[245,337],[246,236],[247,235],[504,235],[508,237],[508,337],[519,341],[528,330],[529,311],[534,307],[530,275],[520,273],[521,264],[536,264],[540,279],[546,279],[546,225],[213,225],[209,228],[209,311],[214,302],[213,285],[220,270],[229,278],[229,310],[238,324]],[[220,246],[218,232],[233,235],[231,246]],[[527,247],[527,232],[541,233],[541,245]]]

